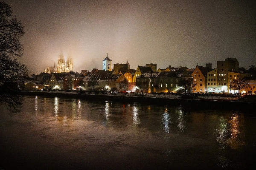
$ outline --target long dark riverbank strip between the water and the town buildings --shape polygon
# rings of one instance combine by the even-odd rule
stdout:
[[[168,105],[208,110],[254,110],[256,102],[242,101],[230,96],[198,96],[198,99],[180,99],[180,95],[156,94],[78,94],[74,91],[23,91],[23,95],[64,97],[85,100],[116,102],[140,102],[151,105]]]

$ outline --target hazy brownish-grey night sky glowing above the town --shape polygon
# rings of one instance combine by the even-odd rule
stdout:
[[[31,73],[64,57],[74,71],[102,69],[107,56],[131,68],[204,66],[236,57],[256,65],[255,0],[5,0],[25,27]],[[113,66],[112,66],[113,68]]]

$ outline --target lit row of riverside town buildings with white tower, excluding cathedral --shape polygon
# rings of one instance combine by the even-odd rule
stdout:
[[[113,64],[108,55],[103,59],[102,70],[93,69],[75,73],[63,71],[61,73],[41,73],[32,75],[33,81],[27,82],[28,90],[36,89],[61,89],[75,90],[92,88],[90,82],[97,82],[94,89],[115,89],[116,91],[135,91],[140,87],[144,93],[176,92],[180,88],[182,79],[193,79],[192,92],[198,93],[236,93],[238,90],[232,87],[232,82],[238,77],[247,77],[247,85],[240,92],[256,92],[256,78],[239,69],[236,58],[226,58],[217,61],[217,68],[212,64],[198,66],[189,69],[186,67],[171,67],[157,69],[157,64],[146,64],[130,69],[128,62],[125,64]],[[138,85],[140,84],[140,86]]]

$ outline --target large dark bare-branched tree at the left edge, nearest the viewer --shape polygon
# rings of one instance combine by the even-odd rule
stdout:
[[[27,76],[26,66],[18,61],[23,54],[20,38],[24,34],[21,23],[12,17],[11,7],[0,2],[0,102],[13,112],[22,104],[20,90]]]

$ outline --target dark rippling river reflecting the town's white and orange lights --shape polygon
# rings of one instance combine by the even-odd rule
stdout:
[[[0,110],[3,170],[255,167],[255,111],[39,96]]]

